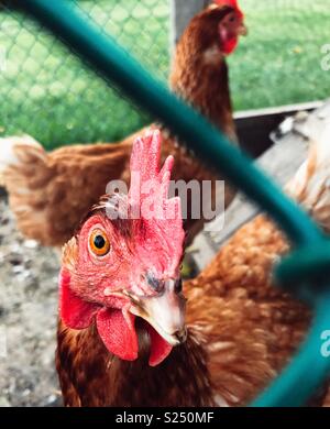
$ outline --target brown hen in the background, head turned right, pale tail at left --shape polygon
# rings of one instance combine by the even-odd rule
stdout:
[[[244,33],[243,14],[237,2],[218,1],[188,25],[178,43],[170,77],[173,89],[233,141],[237,139],[224,55],[234,50],[239,35]],[[175,136],[166,130],[163,135],[163,158],[168,154],[176,158],[175,179],[219,178],[178,146]],[[31,138],[0,140],[0,184],[9,191],[10,206],[24,235],[44,245],[67,241],[84,213],[105,194],[107,184],[129,179],[135,136],[120,144],[65,146],[50,154]],[[227,189],[226,202],[232,197]],[[202,221],[191,220],[187,229],[194,235],[201,226]]]

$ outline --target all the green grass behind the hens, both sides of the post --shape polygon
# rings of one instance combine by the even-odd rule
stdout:
[[[166,79],[168,0],[79,1],[103,29],[158,78]],[[330,0],[241,0],[249,37],[229,58],[237,110],[330,96],[320,67],[330,43]],[[45,31],[12,12],[0,13],[0,133],[24,132],[47,148],[116,141],[150,119],[82,66]]]

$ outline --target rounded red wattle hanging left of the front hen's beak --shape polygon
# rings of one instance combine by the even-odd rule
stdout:
[[[97,328],[106,348],[124,361],[138,359],[139,343],[134,329],[135,316],[131,318],[131,327],[123,317],[122,310],[103,308],[97,315]]]

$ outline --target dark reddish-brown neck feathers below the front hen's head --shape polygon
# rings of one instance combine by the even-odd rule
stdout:
[[[147,340],[143,338],[143,332],[139,334],[140,356],[134,362],[127,362],[108,352],[95,327],[73,331],[61,324],[56,361],[65,404],[213,405],[206,358],[191,334],[156,367],[148,366]]]

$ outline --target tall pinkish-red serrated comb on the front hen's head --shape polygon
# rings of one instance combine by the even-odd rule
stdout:
[[[160,168],[161,132],[146,133],[135,140],[131,156],[131,187],[129,202],[132,217],[141,218],[147,229],[150,248],[160,249],[160,241],[168,261],[167,270],[176,270],[183,254],[185,232],[180,199],[168,198],[173,156]],[[166,264],[167,265],[167,264]]]

